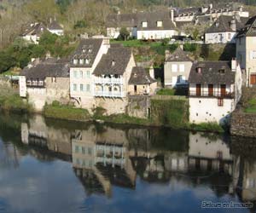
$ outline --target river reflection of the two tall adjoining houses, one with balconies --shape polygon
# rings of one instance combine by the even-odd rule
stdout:
[[[111,184],[135,187],[136,173],[132,169],[127,146],[123,130],[96,130],[95,125],[90,125],[88,130],[76,130],[72,139],[76,175],[82,182],[90,176],[94,184],[92,191],[104,192],[108,196],[111,195]]]

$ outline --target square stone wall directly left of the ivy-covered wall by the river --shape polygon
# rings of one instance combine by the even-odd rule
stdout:
[[[129,95],[127,114],[131,117],[148,118],[150,110],[148,95]]]

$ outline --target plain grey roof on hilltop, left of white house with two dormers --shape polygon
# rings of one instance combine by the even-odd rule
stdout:
[[[107,27],[133,27],[137,25],[137,14],[108,14]]]

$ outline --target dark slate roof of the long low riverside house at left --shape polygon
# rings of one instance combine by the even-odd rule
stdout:
[[[46,77],[68,78],[69,77],[69,60],[49,58],[39,62],[32,67],[26,66],[20,76],[26,76],[27,79],[41,79]]]

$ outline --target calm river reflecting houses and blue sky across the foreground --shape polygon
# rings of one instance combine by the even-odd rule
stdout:
[[[255,212],[252,143],[2,113],[0,212]]]

